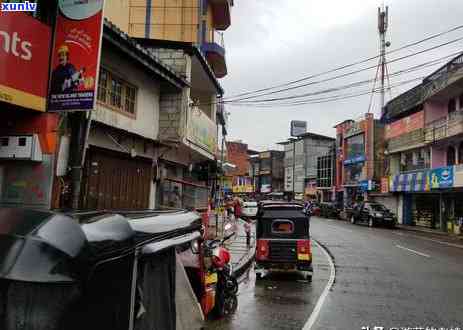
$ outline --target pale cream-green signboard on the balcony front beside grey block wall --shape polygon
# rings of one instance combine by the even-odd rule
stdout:
[[[190,110],[187,139],[215,155],[217,150],[217,126],[198,108]]]

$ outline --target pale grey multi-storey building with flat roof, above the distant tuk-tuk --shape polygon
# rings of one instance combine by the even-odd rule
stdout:
[[[335,139],[329,136],[304,133],[281,142],[285,152],[285,192],[317,198],[318,157],[328,155]],[[325,196],[327,197],[327,196]]]

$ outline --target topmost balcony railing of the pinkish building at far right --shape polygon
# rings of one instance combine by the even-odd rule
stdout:
[[[463,111],[456,111],[428,124],[425,129],[425,140],[427,143],[433,143],[462,133]]]

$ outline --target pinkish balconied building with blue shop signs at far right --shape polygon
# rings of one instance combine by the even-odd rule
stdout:
[[[389,191],[400,222],[452,230],[463,219],[463,56],[386,106]]]

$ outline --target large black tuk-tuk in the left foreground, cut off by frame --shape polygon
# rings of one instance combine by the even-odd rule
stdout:
[[[200,329],[177,247],[202,233],[184,210],[0,208],[0,329]]]

